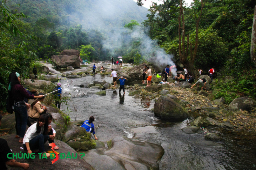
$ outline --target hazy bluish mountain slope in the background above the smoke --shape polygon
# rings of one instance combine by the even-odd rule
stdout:
[[[27,15],[26,22],[35,24],[46,18],[56,30],[78,24],[84,29],[122,28],[131,20],[143,22],[148,13],[133,0],[12,0],[7,4],[11,10]]]

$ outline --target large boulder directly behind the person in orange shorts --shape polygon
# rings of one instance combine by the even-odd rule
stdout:
[[[142,71],[145,65],[147,65],[147,63],[143,63],[139,66],[132,67],[128,71],[128,75],[131,77],[131,80],[142,80]],[[152,75],[155,74],[154,68],[151,68],[151,73]]]

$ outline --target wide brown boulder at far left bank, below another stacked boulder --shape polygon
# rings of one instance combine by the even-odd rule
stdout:
[[[52,56],[52,62],[56,68],[67,68],[72,66],[73,68],[80,67],[80,59],[78,56]]]

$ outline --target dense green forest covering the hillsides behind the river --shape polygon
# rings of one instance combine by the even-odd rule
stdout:
[[[5,102],[10,72],[27,77],[35,61],[49,61],[64,49],[90,46],[94,50],[81,56],[90,61],[123,56],[124,62],[140,64],[154,57],[154,52],[142,53],[143,39],[131,38],[137,30],[191,72],[201,68],[207,73],[215,66],[218,77],[234,76],[232,83],[218,80],[216,97],[231,100],[239,94],[256,98],[256,69],[250,58],[255,0],[194,0],[189,7],[181,0],[163,0],[160,5],[153,3],[148,11],[140,7],[142,3],[3,0],[0,106]],[[118,48],[107,48],[104,42],[118,31],[122,43]],[[127,37],[132,40],[126,42]]]

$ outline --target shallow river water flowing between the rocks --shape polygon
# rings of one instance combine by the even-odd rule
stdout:
[[[164,122],[149,112],[154,100],[121,95],[114,90],[106,90],[106,95],[87,95],[94,89],[80,88],[81,83],[93,81],[112,82],[108,76],[86,76],[80,79],[68,79],[70,88],[65,88],[62,95],[70,95],[69,106],[62,105],[61,110],[70,109],[70,118],[86,120],[94,116],[96,136],[100,141],[108,141],[115,136],[137,138],[157,143],[164,148],[164,155],[159,162],[161,170],[249,170],[256,169],[256,144],[251,140],[239,139],[232,134],[221,133],[217,128],[209,128],[222,137],[220,142],[204,139],[204,131],[185,134],[186,127],[193,118],[179,123]],[[62,87],[67,86],[67,79],[60,80]],[[96,91],[100,91],[96,90]],[[88,93],[89,94],[89,93]],[[70,96],[69,95],[69,96]]]

